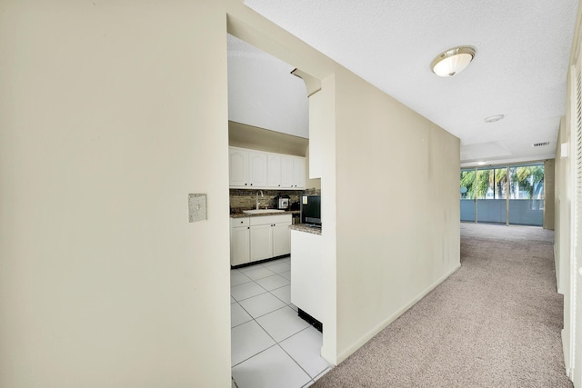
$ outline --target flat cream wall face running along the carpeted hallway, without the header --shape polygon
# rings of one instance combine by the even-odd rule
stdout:
[[[459,140],[336,73],[341,361],[460,266]]]

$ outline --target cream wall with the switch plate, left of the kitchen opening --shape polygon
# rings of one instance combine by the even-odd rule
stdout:
[[[0,67],[0,386],[230,386],[223,2],[7,0]]]

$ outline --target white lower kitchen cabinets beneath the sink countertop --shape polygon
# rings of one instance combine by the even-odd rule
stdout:
[[[291,214],[230,219],[230,264],[240,265],[291,253]]]

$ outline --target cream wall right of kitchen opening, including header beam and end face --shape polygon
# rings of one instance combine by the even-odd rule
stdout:
[[[340,363],[459,267],[459,140],[248,8],[230,8],[228,28],[322,81],[310,175],[327,243],[322,354]]]

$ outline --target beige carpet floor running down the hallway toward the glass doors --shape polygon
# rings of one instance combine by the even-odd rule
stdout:
[[[312,387],[572,387],[553,241],[461,224],[461,268]]]

